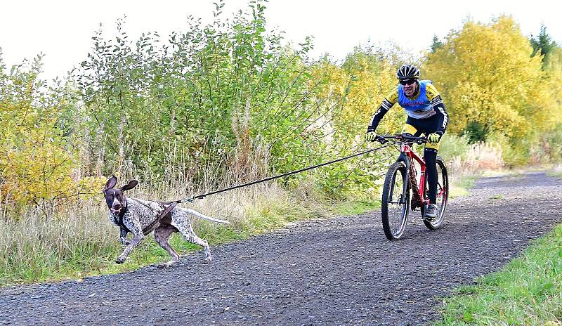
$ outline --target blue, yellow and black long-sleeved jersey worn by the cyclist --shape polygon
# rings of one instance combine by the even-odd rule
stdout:
[[[439,92],[435,86],[431,84],[430,80],[418,81],[416,93],[414,93],[412,98],[408,98],[404,93],[404,87],[398,84],[383,100],[379,110],[373,115],[367,130],[374,131],[377,129],[382,117],[384,117],[386,112],[396,103],[403,107],[408,117],[412,119],[427,119],[433,117],[433,115],[437,115],[438,128],[431,132],[438,133],[441,136],[445,133],[447,123],[449,122],[449,116],[447,115],[447,111],[445,111],[445,105],[443,104],[443,100],[441,100]]]

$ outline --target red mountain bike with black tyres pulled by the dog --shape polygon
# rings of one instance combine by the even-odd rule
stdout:
[[[429,204],[429,187],[426,183],[426,164],[412,149],[413,143],[424,144],[426,137],[415,137],[397,134],[395,136],[377,136],[375,141],[381,144],[388,140],[398,140],[400,156],[391,165],[386,173],[382,191],[381,218],[384,235],[388,240],[398,240],[406,228],[410,209],[414,211],[419,207],[423,218]],[[419,179],[414,164],[419,164]],[[437,157],[437,216],[431,220],[424,219],[424,224],[429,230],[437,230],[443,223],[445,208],[449,195],[449,179],[447,168],[441,157]],[[419,185],[419,187],[418,187]],[[411,194],[410,194],[411,190]]]

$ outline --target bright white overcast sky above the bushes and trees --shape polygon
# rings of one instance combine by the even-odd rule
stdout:
[[[0,4],[0,48],[10,66],[39,52],[44,57],[44,79],[65,77],[74,65],[86,59],[91,37],[100,22],[106,36],[116,34],[117,18],[126,15],[124,30],[130,39],[142,32],[157,31],[166,39],[172,30],[183,30],[185,18],[194,15],[211,22],[213,0],[8,0]],[[225,17],[246,8],[249,0],[226,0]],[[556,5],[558,3],[558,5]],[[314,37],[313,56],[329,53],[339,59],[353,46],[370,40],[392,40],[414,53],[429,48],[433,35],[444,37],[463,20],[490,22],[506,13],[521,25],[523,34],[540,32],[540,25],[562,44],[562,4],[559,1],[469,0],[469,1],[321,1],[270,0],[268,26],[286,32],[294,43]]]

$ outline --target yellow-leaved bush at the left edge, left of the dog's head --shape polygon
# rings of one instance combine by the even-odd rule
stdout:
[[[101,180],[72,177],[78,150],[57,128],[60,106],[41,103],[34,74],[0,77],[0,202],[55,207],[98,192]]]

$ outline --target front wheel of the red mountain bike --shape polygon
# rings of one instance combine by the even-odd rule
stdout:
[[[382,227],[388,240],[400,239],[409,213],[410,182],[405,164],[399,161],[388,169],[382,190]]]

